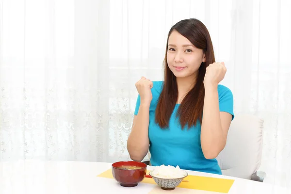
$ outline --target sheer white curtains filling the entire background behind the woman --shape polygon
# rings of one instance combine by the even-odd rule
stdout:
[[[291,184],[290,0],[1,0],[0,160],[127,160],[141,76],[167,32],[208,27],[235,113],[264,119],[261,170]]]

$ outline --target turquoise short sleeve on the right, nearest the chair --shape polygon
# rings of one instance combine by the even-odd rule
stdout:
[[[233,113],[233,95],[230,89],[226,86],[219,85],[218,87],[219,94],[219,110],[221,112],[230,113],[232,115],[232,119],[234,118]]]

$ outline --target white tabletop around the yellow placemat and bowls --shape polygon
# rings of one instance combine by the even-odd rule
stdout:
[[[99,178],[111,168],[103,162],[0,162],[0,194],[148,194],[157,185],[139,183],[126,188],[114,179]],[[148,166],[148,169],[153,168]],[[190,175],[235,179],[229,194],[291,194],[291,190],[241,178],[188,171]],[[159,190],[160,191],[160,190]],[[195,190],[196,191],[196,190]],[[187,193],[185,189],[163,191],[161,194]],[[195,194],[218,194],[196,191]]]

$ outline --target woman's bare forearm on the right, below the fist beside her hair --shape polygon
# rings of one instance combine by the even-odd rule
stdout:
[[[217,85],[205,86],[200,138],[202,151],[207,159],[216,158],[225,146],[226,135],[221,125]]]

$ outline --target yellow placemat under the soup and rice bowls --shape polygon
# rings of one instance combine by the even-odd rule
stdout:
[[[148,174],[149,170],[147,170]],[[103,178],[113,178],[112,170],[106,170],[97,177]],[[196,189],[202,191],[211,191],[211,192],[219,192],[227,194],[229,189],[231,188],[234,180],[233,179],[225,179],[225,178],[212,178],[212,177],[201,177],[201,176],[193,176],[188,175],[184,180],[189,180],[189,182],[181,182],[178,185],[180,188],[186,189]],[[142,183],[156,184],[153,178],[145,178]]]

